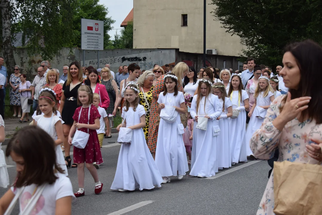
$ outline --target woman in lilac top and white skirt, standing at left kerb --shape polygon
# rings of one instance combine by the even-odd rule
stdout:
[[[20,102],[22,107],[22,115],[19,122],[28,122],[29,121],[29,113],[30,113],[30,105],[33,103],[31,99],[31,91],[30,88],[31,83],[26,81],[27,77],[25,74],[20,75],[20,83],[17,86],[19,88],[20,93]],[[24,116],[26,115],[26,120],[24,120]]]

